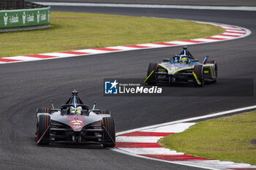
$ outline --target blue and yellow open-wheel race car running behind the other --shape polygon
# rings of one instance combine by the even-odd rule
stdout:
[[[217,82],[217,62],[209,61],[206,55],[200,63],[189,53],[187,47],[183,47],[180,55],[175,55],[172,59],[164,58],[162,63],[149,63],[144,82],[149,85],[158,82],[194,83],[195,86],[202,87],[204,82]]]

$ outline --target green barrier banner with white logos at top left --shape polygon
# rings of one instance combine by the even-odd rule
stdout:
[[[50,7],[0,10],[0,29],[40,26],[50,23]]]

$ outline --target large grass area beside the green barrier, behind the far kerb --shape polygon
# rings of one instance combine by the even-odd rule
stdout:
[[[51,28],[0,34],[0,57],[135,45],[221,34],[207,24],[162,18],[51,12]]]

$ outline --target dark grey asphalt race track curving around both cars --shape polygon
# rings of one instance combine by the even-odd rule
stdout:
[[[218,63],[219,78],[256,80],[255,12],[184,9],[126,9],[53,7],[53,11],[100,12],[159,18],[227,23],[252,31],[250,36],[226,42],[191,45],[198,59],[206,53]],[[146,77],[149,62],[159,62],[181,47],[138,50],[75,58],[61,58],[0,66],[0,169],[195,169],[123,155],[97,145],[37,147],[34,142],[37,107],[63,104],[75,88],[87,104],[110,109],[117,131],[255,105],[256,98],[241,96],[104,97],[103,78]],[[254,81],[255,82],[255,81]],[[219,85],[222,85],[218,82]],[[202,89],[214,89],[206,85]],[[255,85],[254,85],[255,87]],[[170,87],[171,88],[171,87]],[[193,88],[175,87],[190,91]],[[233,86],[230,87],[231,90]]]

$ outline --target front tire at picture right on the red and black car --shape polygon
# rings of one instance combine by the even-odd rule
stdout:
[[[108,142],[103,144],[103,147],[115,147],[116,145],[116,127],[113,117],[102,118],[102,128],[106,131],[103,132],[104,141]]]

